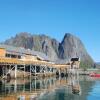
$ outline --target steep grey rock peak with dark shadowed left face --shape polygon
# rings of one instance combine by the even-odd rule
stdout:
[[[70,33],[66,33],[62,42],[60,43],[59,57],[62,59],[80,57],[82,67],[94,66],[94,61],[87,53],[82,41]]]

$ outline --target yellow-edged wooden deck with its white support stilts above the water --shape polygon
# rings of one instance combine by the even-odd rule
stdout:
[[[59,72],[59,75],[61,73],[67,73],[68,69],[71,69],[72,66],[76,66],[79,68],[79,61],[76,62],[68,62],[67,64],[55,64],[53,62],[43,61],[43,60],[23,60],[23,59],[17,59],[17,58],[6,58],[6,57],[0,57],[0,67],[2,67],[2,70],[6,71],[6,75],[10,72],[14,75],[16,78],[17,76],[26,77],[33,73],[38,76],[45,75],[50,76],[56,74],[56,72]],[[18,66],[23,66],[23,71],[19,71],[17,69]],[[13,66],[13,67],[12,67]],[[26,66],[28,66],[28,69],[30,69],[29,72],[26,72]],[[9,67],[9,68],[8,68]],[[37,72],[37,68],[39,67],[39,72]],[[21,68],[21,67],[20,67]],[[49,69],[49,71],[48,71]],[[31,74],[30,74],[31,73]],[[3,77],[5,73],[3,72]]]

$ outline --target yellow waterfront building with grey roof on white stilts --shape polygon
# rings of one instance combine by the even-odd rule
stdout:
[[[0,45],[0,79],[77,74],[79,64],[78,57],[58,64],[40,52]]]

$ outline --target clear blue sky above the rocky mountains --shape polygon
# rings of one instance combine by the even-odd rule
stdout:
[[[0,0],[0,42],[20,32],[79,37],[100,62],[100,0]]]

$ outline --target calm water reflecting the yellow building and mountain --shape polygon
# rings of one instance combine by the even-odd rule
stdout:
[[[74,76],[0,81],[0,100],[100,100],[100,79]]]

